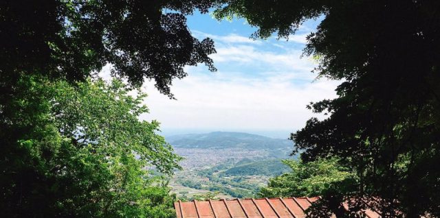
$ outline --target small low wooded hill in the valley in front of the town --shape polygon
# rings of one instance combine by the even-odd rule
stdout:
[[[285,173],[289,167],[283,165],[281,160],[260,160],[237,164],[226,170],[225,175],[268,175],[275,176]]]

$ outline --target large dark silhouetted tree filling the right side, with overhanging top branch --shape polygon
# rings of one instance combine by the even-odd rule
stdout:
[[[241,16],[263,38],[322,17],[305,55],[318,58],[318,77],[342,83],[336,99],[309,105],[329,117],[292,134],[295,152],[305,161],[338,156],[360,178],[353,197],[378,197],[383,217],[438,217],[439,10],[433,0],[239,0],[216,16]]]

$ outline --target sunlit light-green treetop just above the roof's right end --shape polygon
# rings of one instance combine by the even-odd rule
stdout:
[[[283,160],[292,171],[271,178],[267,187],[260,190],[261,197],[316,197],[327,195],[329,190],[338,189],[341,193],[342,183],[354,183],[356,177],[338,160]]]

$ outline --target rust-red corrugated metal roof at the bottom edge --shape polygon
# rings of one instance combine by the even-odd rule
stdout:
[[[319,197],[209,200],[175,202],[177,218],[303,218],[305,210]],[[373,210],[361,211],[366,217],[379,218]]]

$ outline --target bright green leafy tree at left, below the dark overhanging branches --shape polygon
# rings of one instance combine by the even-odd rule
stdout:
[[[148,171],[170,174],[181,158],[156,134],[156,121],[138,120],[148,112],[140,89],[129,95],[120,80],[72,86],[28,76],[20,82],[28,92],[14,100],[21,111],[10,121],[32,131],[17,146],[3,147],[3,215],[173,216],[169,188]]]

